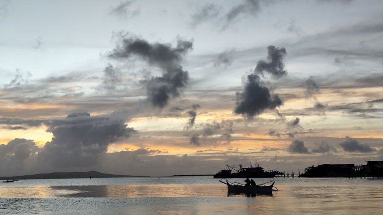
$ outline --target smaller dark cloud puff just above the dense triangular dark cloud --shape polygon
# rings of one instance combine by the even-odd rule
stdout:
[[[260,60],[255,67],[254,72],[263,76],[264,72],[271,74],[274,78],[280,78],[287,75],[287,71],[284,69],[283,58],[286,55],[285,48],[278,48],[275,46],[268,46],[267,61]]]

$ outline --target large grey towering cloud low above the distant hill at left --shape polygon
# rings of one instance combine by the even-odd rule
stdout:
[[[97,158],[106,152],[110,143],[136,132],[122,121],[85,113],[54,120],[46,131],[51,132],[53,138],[39,152],[39,159],[54,168],[96,165]]]

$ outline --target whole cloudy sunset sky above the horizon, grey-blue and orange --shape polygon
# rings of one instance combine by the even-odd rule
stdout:
[[[383,160],[381,0],[0,0],[0,175]]]

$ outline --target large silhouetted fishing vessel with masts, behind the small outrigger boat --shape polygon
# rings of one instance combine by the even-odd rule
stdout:
[[[250,167],[244,168],[242,164],[239,164],[238,167],[232,167],[226,164],[228,169],[222,169],[215,175],[213,178],[274,178],[277,174],[282,174],[279,171],[264,171],[262,167],[259,166],[258,162],[256,167],[253,167],[250,164]],[[231,172],[234,170],[235,172]]]

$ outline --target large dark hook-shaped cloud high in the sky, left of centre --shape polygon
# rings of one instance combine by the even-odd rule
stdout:
[[[129,59],[138,56],[150,65],[158,66],[163,70],[161,77],[152,77],[143,80],[146,85],[147,97],[155,107],[165,107],[169,100],[178,97],[181,90],[189,81],[188,71],[181,66],[183,56],[192,49],[192,41],[178,39],[177,47],[170,44],[149,43],[148,41],[135,37],[121,35],[121,41],[109,57],[114,59]]]

